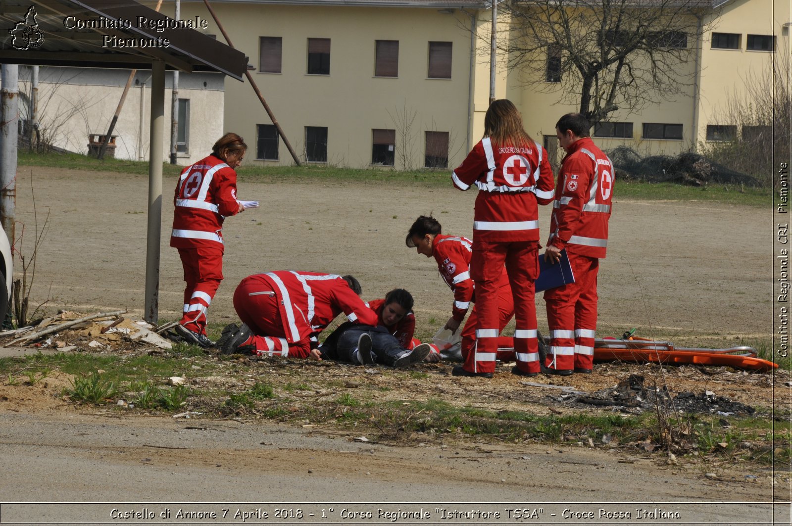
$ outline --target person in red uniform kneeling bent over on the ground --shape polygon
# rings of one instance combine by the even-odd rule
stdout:
[[[226,326],[218,347],[224,353],[243,348],[257,356],[318,360],[318,334],[341,312],[350,322],[377,325],[377,315],[359,294],[352,276],[294,270],[247,276],[234,291],[242,326]]]

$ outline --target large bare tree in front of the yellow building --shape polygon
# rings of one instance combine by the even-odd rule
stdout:
[[[596,124],[617,109],[670,100],[694,80],[695,42],[714,17],[702,0],[508,0],[498,47],[531,89],[579,101]],[[542,82],[536,82],[541,80]]]

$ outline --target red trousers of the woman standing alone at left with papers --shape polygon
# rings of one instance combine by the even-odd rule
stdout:
[[[223,249],[200,247],[178,249],[185,270],[185,306],[181,325],[206,334],[206,311],[223,280]]]

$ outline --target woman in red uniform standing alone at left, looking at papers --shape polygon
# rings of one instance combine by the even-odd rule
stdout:
[[[188,343],[211,347],[206,311],[223,280],[223,219],[245,210],[237,200],[237,173],[245,157],[245,140],[223,135],[212,153],[181,172],[173,204],[170,246],[179,250],[185,269],[184,314],[176,326]]]

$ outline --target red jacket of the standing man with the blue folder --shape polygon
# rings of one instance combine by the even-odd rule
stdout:
[[[572,144],[558,174],[548,244],[588,257],[605,257],[613,209],[613,164],[589,137]]]

